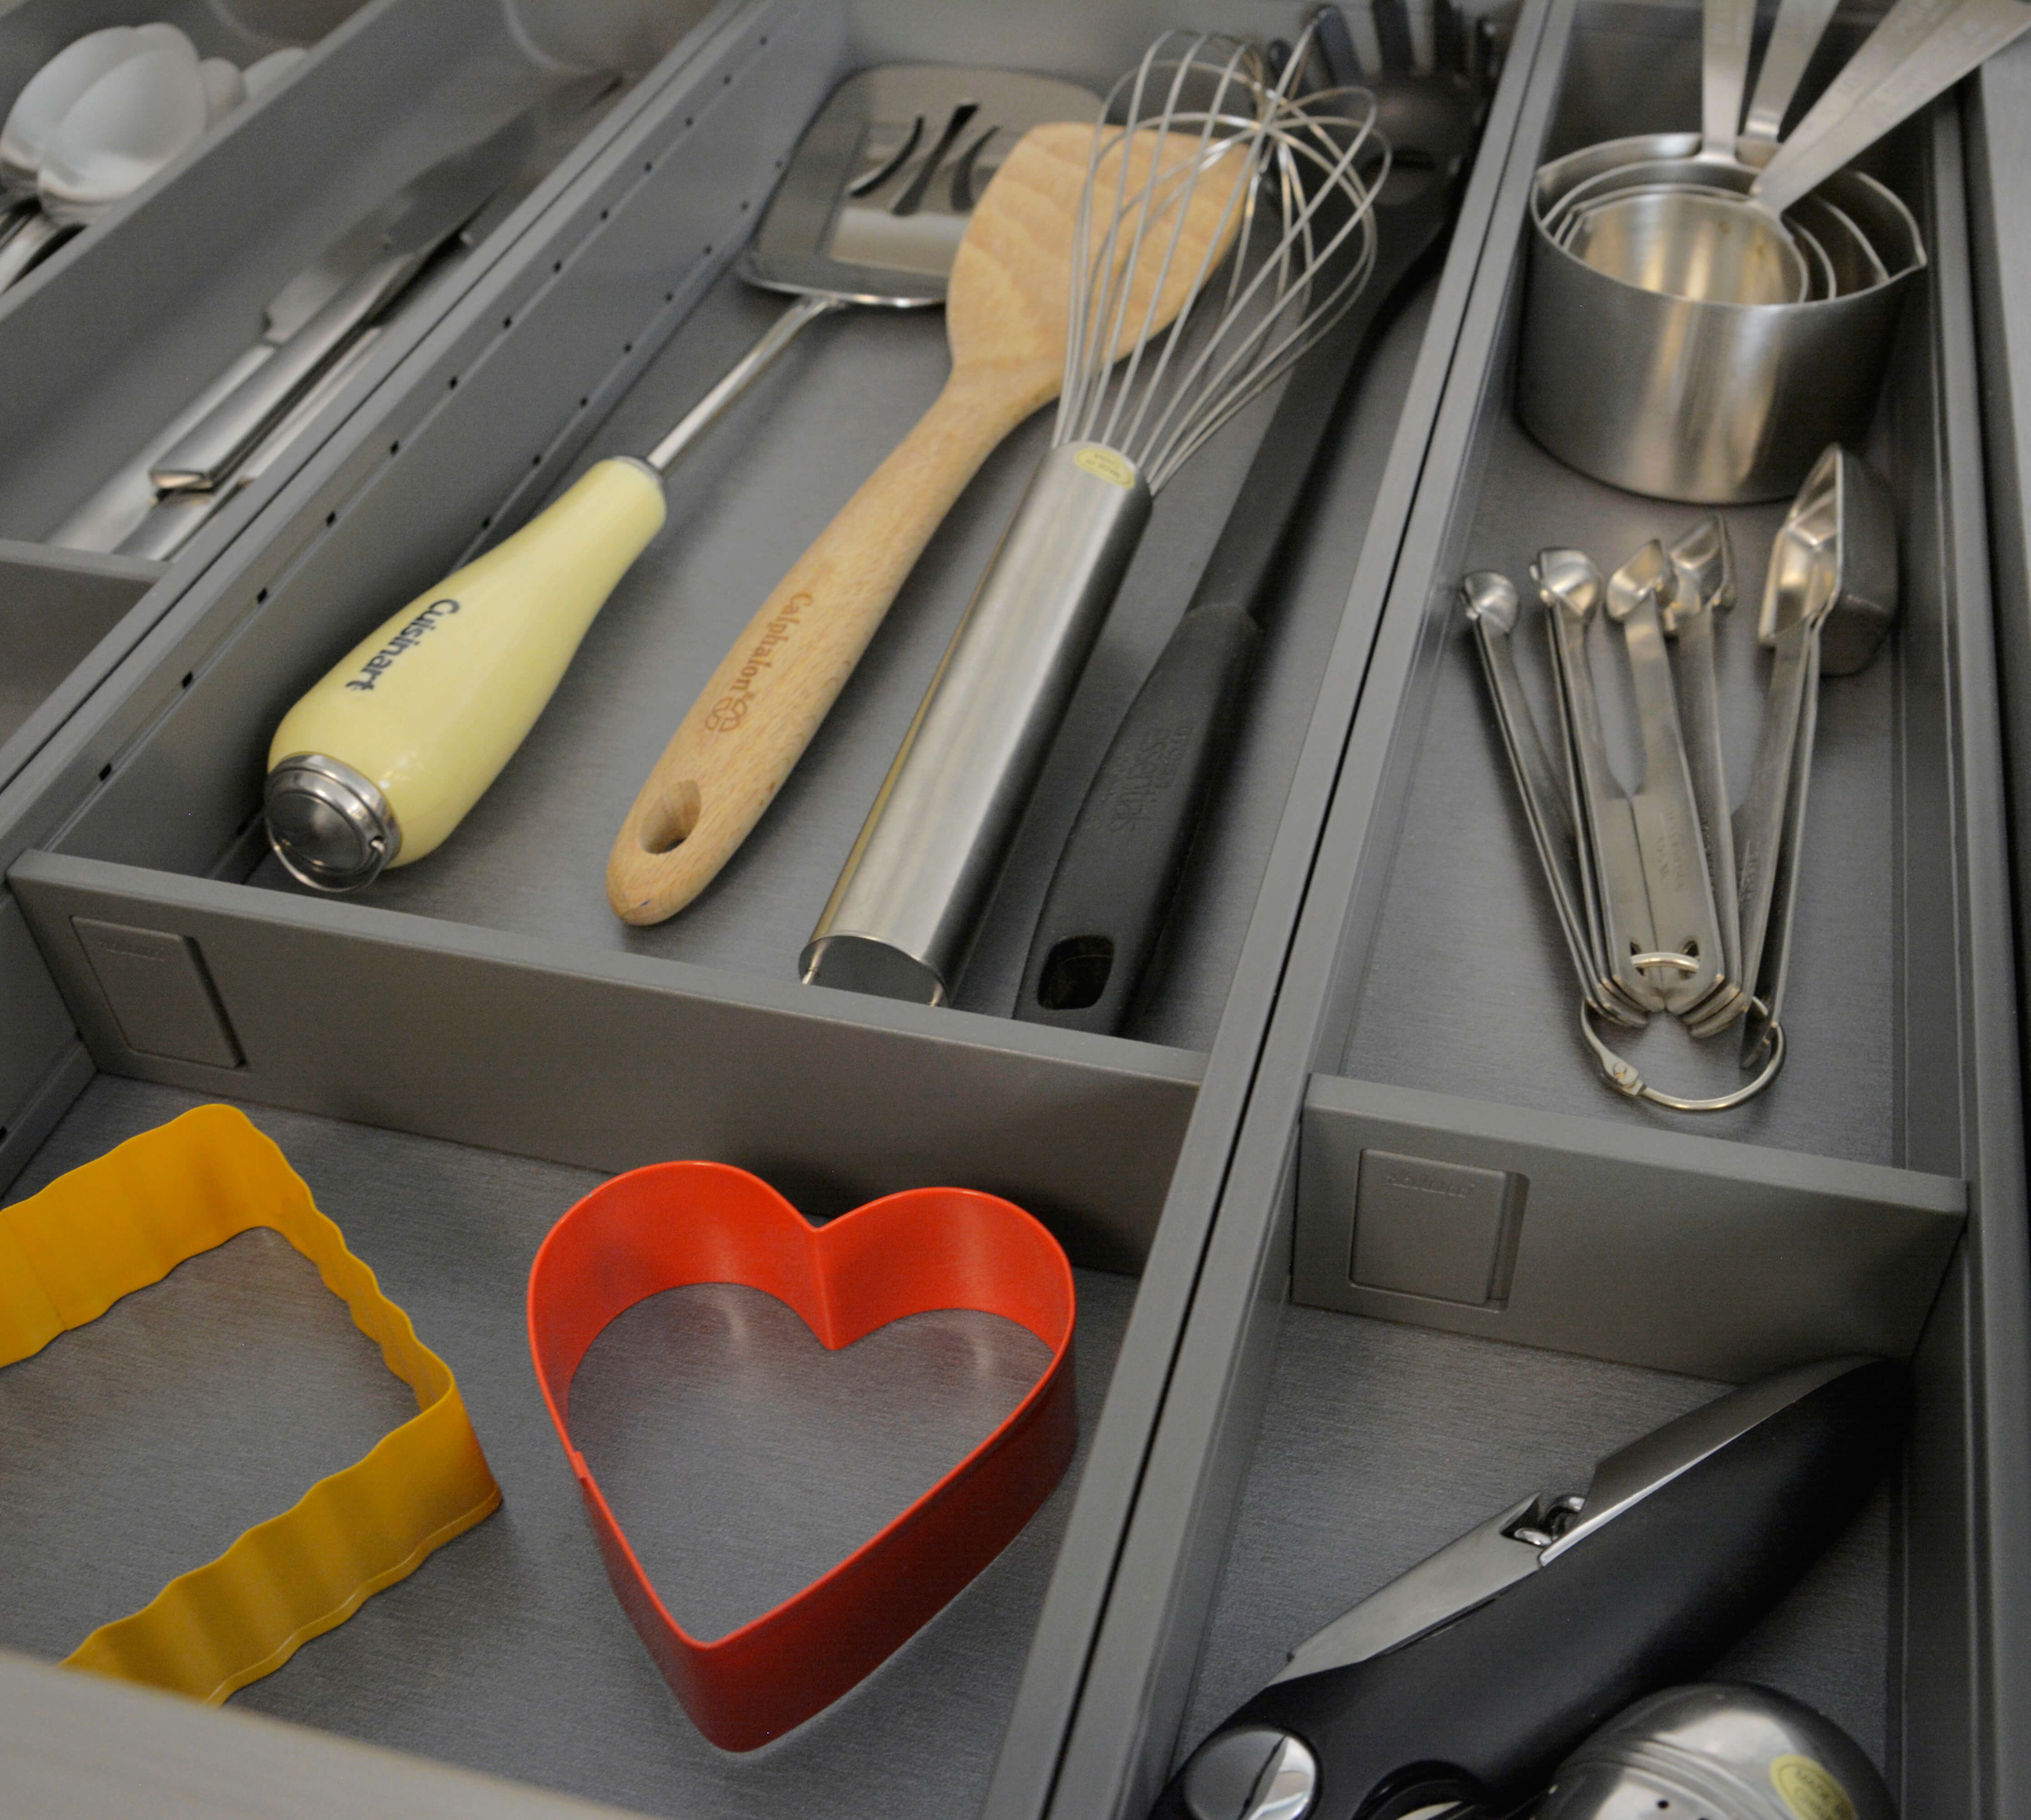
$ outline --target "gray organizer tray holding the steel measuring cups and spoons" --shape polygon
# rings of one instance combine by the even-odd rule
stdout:
[[[1903,620],[1875,670],[1822,685],[1763,1101],[1674,1117],[1594,1072],[1458,599],[1466,571],[1527,593],[1539,546],[1609,569],[1696,516],[1552,463],[1511,380],[1533,171],[1696,124],[1698,32],[1696,8],[1552,8],[1410,528],[1355,583],[1373,660],[1123,1542],[1133,1592],[1056,1765],[1064,1820],[1145,1812],[1300,1639],[1470,1523],[1584,1489],[1712,1381],[1844,1351],[1913,1361],[1907,1469],[1716,1672],[1834,1714],[1909,1816],[2025,1806],[2023,1105],[1958,110],[1875,167],[1931,250],[1869,449]],[[1728,512],[1737,615],[1779,514]],[[1669,1085],[1690,1048],[1645,1072]]]

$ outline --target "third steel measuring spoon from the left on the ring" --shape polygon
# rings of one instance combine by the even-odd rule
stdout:
[[[1659,953],[1686,957],[1690,967],[1645,969],[1674,1016],[1686,1016],[1726,985],[1714,888],[1700,839],[1700,808],[1678,725],[1672,656],[1663,646],[1659,603],[1676,591],[1672,561],[1655,538],[1609,577],[1609,618],[1623,628],[1629,680],[1643,729],[1643,784],[1629,806],[1643,853],[1651,936]]]

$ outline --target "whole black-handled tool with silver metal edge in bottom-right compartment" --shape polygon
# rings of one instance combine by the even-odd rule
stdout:
[[[1895,1458],[1907,1375],[1828,1359],[1730,1391],[1334,1619],[1184,1763],[1154,1820],[1507,1812],[1631,1700],[1708,1664]]]

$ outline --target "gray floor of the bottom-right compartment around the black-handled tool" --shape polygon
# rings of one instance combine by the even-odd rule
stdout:
[[[1584,1489],[1594,1460],[1724,1385],[1286,1308],[1249,1485],[1202,1643],[1180,1757],[1310,1637],[1472,1521]],[[1716,1680],[1783,1688],[1879,1763],[1891,1741],[1889,1489]]]

